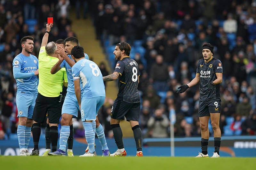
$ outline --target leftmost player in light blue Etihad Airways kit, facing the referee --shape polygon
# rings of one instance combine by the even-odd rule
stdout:
[[[20,41],[22,52],[13,59],[13,77],[17,82],[16,104],[19,125],[17,129],[20,156],[29,156],[28,144],[33,124],[32,115],[36,104],[38,59],[30,53],[34,48],[34,38],[23,37]]]

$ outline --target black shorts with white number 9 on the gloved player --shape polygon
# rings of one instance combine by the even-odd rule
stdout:
[[[221,100],[213,99],[207,101],[199,101],[198,116],[210,116],[210,113],[220,113]]]

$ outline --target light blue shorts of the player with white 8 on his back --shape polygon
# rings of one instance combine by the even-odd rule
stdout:
[[[103,105],[105,97],[82,98],[81,118],[82,121],[94,121],[98,115],[100,107]]]

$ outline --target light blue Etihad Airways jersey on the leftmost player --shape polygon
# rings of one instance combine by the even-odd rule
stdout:
[[[38,69],[38,59],[35,55],[25,56],[17,55],[12,62],[13,73],[33,73]],[[26,95],[37,95],[37,79],[36,76],[27,78],[17,78],[17,93]]]

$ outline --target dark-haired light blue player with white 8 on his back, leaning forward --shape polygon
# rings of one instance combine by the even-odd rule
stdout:
[[[76,46],[72,49],[72,58],[76,64],[72,67],[76,99],[81,110],[81,117],[85,130],[85,138],[89,152],[82,157],[95,156],[95,124],[97,113],[105,100],[105,86],[99,67],[94,62],[83,57],[84,48]],[[82,87],[80,87],[82,82]],[[81,100],[82,99],[82,100]],[[108,151],[109,154],[109,151]]]

